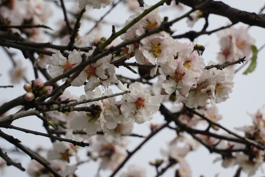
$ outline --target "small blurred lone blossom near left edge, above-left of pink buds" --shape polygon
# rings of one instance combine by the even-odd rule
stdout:
[[[15,64],[15,68],[11,68],[9,70],[9,77],[11,79],[11,83],[13,84],[20,83],[26,76],[26,68],[22,67],[21,61],[17,60],[15,61]]]

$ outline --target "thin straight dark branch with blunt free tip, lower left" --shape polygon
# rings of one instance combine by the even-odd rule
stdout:
[[[2,127],[15,129],[15,130],[19,130],[19,131],[22,131],[22,132],[25,132],[25,133],[31,133],[31,134],[34,134],[34,135],[40,135],[40,136],[44,136],[44,137],[49,137],[49,138],[52,138],[54,140],[59,140],[61,142],[62,141],[69,142],[69,143],[72,143],[74,146],[75,145],[81,146],[81,147],[89,146],[89,143],[86,143],[86,142],[78,142],[78,141],[70,140],[70,139],[67,139],[67,138],[62,138],[62,137],[57,137],[57,136],[54,136],[54,135],[50,135],[50,134],[47,134],[47,133],[41,133],[41,132],[36,132],[36,131],[33,131],[33,130],[28,130],[28,129],[24,129],[24,128],[20,128],[20,127],[15,127],[13,125],[4,125]]]

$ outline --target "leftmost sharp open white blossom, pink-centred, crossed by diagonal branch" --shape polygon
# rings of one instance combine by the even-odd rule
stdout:
[[[82,62],[82,54],[83,52],[78,52],[74,49],[73,52],[69,54],[68,58],[66,58],[61,54],[59,50],[57,50],[55,54],[52,54],[52,64],[50,64],[48,67],[50,75],[52,77],[56,77],[66,71],[69,71],[77,64]],[[71,82],[71,85],[82,86],[85,79],[86,78],[80,74]],[[62,79],[63,82],[66,80],[67,78]]]

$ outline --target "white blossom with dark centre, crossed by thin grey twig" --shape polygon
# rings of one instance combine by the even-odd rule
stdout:
[[[80,101],[107,95],[112,95],[111,89],[107,89],[104,94],[101,94],[101,90],[97,87],[95,92],[88,91],[85,95],[80,96]],[[95,135],[98,128],[101,128],[103,132],[114,129],[120,121],[120,112],[115,103],[115,97],[111,97],[84,104],[83,106],[90,106],[91,111],[78,112],[72,120],[72,128],[76,130],[85,128],[88,135]]]

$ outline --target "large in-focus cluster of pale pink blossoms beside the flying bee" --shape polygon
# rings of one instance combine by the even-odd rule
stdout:
[[[150,6],[138,8],[136,14],[130,16],[125,24],[148,8]],[[130,40],[138,37],[145,32],[145,29],[155,29],[161,25],[161,22],[158,9],[154,10],[129,28],[121,39]],[[208,99],[215,106],[215,103],[225,101],[232,91],[233,78],[228,76],[226,70],[204,69],[201,53],[194,52],[193,45],[175,41],[165,32],[142,39],[140,45],[136,43],[129,45],[126,51],[134,54],[140,64],[156,64],[156,67],[150,71],[152,77],[160,65],[162,71],[160,73],[164,75],[161,76],[164,77],[161,82],[161,94],[175,92],[179,97],[178,101],[183,101],[190,108],[204,106]]]

